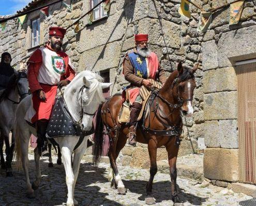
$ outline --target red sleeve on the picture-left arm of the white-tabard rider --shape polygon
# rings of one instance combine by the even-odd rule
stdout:
[[[27,80],[31,92],[41,90],[41,86],[38,82],[39,68],[42,64],[42,53],[40,49],[37,49],[27,61]]]

